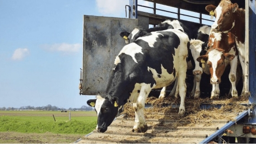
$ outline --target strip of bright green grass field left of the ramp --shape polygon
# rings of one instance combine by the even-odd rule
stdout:
[[[0,111],[0,132],[87,134],[96,128],[96,112],[70,115],[69,121],[69,111]]]

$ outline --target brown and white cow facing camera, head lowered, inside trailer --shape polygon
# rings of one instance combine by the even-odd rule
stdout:
[[[208,41],[208,52],[197,58],[197,61],[207,63],[213,85],[211,98],[219,98],[219,83],[226,66],[230,63],[229,81],[232,85],[231,95],[237,97],[236,90],[236,69],[238,62],[238,51],[235,44],[235,37],[231,32],[210,32]],[[202,61],[203,60],[203,61]]]

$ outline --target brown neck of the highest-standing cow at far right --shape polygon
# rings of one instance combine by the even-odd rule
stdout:
[[[237,9],[235,12],[235,26],[230,30],[235,35],[237,41],[245,43],[245,11]]]

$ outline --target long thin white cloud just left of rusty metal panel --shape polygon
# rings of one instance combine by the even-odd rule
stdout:
[[[78,52],[80,48],[82,48],[82,45],[80,43],[75,43],[75,44],[54,43],[52,45],[45,44],[42,47],[43,49],[46,49],[52,52],[57,51],[57,52],[64,52],[64,53],[74,53],[74,52]]]

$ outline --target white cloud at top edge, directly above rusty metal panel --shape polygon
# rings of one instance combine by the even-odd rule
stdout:
[[[122,12],[125,14],[125,5],[129,5],[129,0],[96,0],[96,4],[101,14],[118,16]]]

